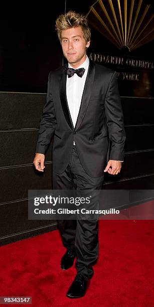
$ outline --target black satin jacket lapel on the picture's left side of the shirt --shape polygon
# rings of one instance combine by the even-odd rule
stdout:
[[[66,64],[66,66],[67,66],[67,64]],[[73,126],[73,122],[72,122],[72,118],[71,118],[71,114],[70,114],[69,106],[68,106],[68,102],[67,102],[67,97],[66,97],[66,75],[65,75],[64,70],[62,72],[62,76],[61,76],[61,80],[60,80],[60,100],[61,100],[63,112],[64,112],[65,118],[68,122],[68,125],[70,126],[71,129],[74,130],[74,126]]]

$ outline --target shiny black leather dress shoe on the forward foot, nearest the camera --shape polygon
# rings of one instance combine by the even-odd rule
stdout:
[[[66,296],[71,298],[78,298],[85,295],[86,289],[89,285],[90,279],[87,278],[83,273],[78,273],[71,286],[69,287]]]

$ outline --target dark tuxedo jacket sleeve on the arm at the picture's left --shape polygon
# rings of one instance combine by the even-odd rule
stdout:
[[[54,131],[56,129],[56,115],[55,108],[51,93],[51,72],[48,77],[48,90],[46,103],[43,108],[43,112],[41,115],[39,132],[38,132],[38,140],[36,145],[36,153],[45,154],[46,149],[52,139]]]

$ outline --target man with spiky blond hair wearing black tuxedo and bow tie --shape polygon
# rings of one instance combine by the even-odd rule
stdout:
[[[87,57],[90,29],[83,15],[60,15],[56,30],[68,63],[49,74],[34,165],[44,171],[45,151],[54,135],[53,188],[100,190],[104,172],[117,175],[124,157],[117,73]],[[81,297],[98,258],[98,221],[57,222],[67,248],[61,268],[71,267],[76,257],[77,275],[66,295]]]

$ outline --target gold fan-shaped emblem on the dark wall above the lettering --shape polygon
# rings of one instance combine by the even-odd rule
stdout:
[[[87,17],[119,49],[132,51],[154,39],[154,14],[142,0],[97,0]]]

